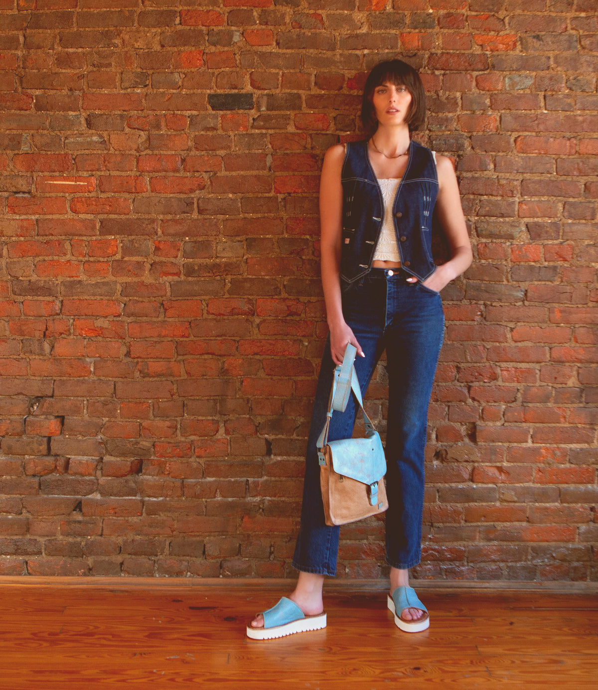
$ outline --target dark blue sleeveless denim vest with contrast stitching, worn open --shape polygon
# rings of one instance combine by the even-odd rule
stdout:
[[[346,145],[341,182],[341,288],[345,291],[370,272],[384,219],[382,192],[370,164],[367,141]],[[419,280],[425,280],[436,270],[431,235],[437,194],[438,175],[432,151],[411,141],[407,167],[392,204],[392,216],[401,266]]]

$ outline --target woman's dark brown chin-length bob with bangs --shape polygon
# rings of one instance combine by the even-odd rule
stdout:
[[[368,137],[378,128],[378,120],[372,98],[374,91],[388,81],[395,86],[406,86],[411,94],[411,103],[407,113],[406,123],[410,130],[416,130],[426,119],[426,92],[423,83],[412,66],[402,60],[386,60],[379,62],[368,75],[366,86],[363,87],[363,102],[361,103],[361,121]]]

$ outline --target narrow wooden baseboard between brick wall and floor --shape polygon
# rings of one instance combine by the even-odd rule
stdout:
[[[126,589],[179,589],[181,587],[237,589],[288,589],[292,580],[282,578],[134,578],[134,577],[61,577],[33,575],[0,575],[0,586],[38,587],[119,587]],[[562,594],[598,593],[598,582],[506,582],[504,580],[471,582],[463,580],[412,580],[411,584],[422,590],[521,592],[546,591]],[[386,591],[386,580],[334,580],[327,578],[325,589],[342,591]]]

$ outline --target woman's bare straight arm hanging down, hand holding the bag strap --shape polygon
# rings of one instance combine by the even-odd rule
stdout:
[[[320,177],[321,274],[330,328],[330,353],[335,364],[341,364],[347,343],[361,346],[343,317],[341,304],[341,243],[343,237],[343,187],[341,168],[345,158],[343,144],[331,146],[322,165]]]

